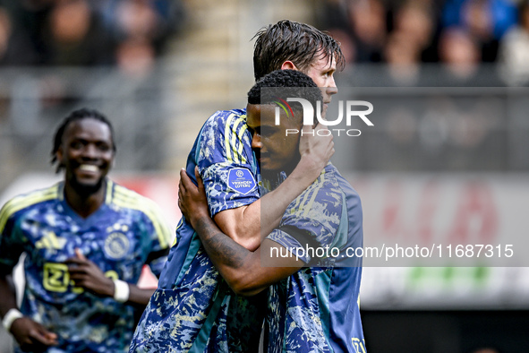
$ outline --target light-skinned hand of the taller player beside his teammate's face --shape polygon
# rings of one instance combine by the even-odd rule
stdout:
[[[299,151],[303,168],[307,168],[309,173],[317,173],[318,176],[335,152],[332,133],[322,124],[314,128],[311,125],[303,125],[302,132]]]

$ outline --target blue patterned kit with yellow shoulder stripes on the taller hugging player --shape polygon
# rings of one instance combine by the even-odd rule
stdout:
[[[212,217],[259,199],[259,171],[245,110],[218,111],[209,117],[187,160],[193,180],[197,165]],[[182,219],[130,351],[256,352],[265,309],[266,293],[235,296]]]

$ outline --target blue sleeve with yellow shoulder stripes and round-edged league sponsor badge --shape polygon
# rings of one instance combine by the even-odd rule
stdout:
[[[245,115],[222,111],[211,116],[199,146],[197,164],[211,216],[259,199],[257,164]]]

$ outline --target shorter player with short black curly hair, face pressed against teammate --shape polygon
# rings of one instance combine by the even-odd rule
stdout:
[[[275,89],[263,94],[269,87]],[[299,134],[286,131],[301,128],[303,109],[277,105],[294,97],[315,107],[318,95],[308,76],[292,70],[269,73],[250,90],[247,124],[264,187],[277,190],[301,159]],[[200,176],[198,187],[185,173],[181,178],[180,209],[229,287],[243,296],[269,289],[267,351],[365,352],[358,305],[362,260],[347,257],[348,249],[363,246],[362,205],[337,168],[328,163],[288,205],[278,226],[261,235],[255,251],[226,237],[211,220]]]

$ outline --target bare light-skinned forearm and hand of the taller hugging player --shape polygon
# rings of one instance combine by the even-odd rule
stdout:
[[[320,176],[321,170],[334,154],[332,134],[321,133],[322,130],[327,130],[327,127],[317,125],[312,129],[310,125],[303,126],[299,163],[276,190],[262,197],[274,207],[261,210],[258,200],[247,206],[220,211],[214,216],[218,228],[246,249],[256,250],[261,240],[278,226],[290,202]]]

